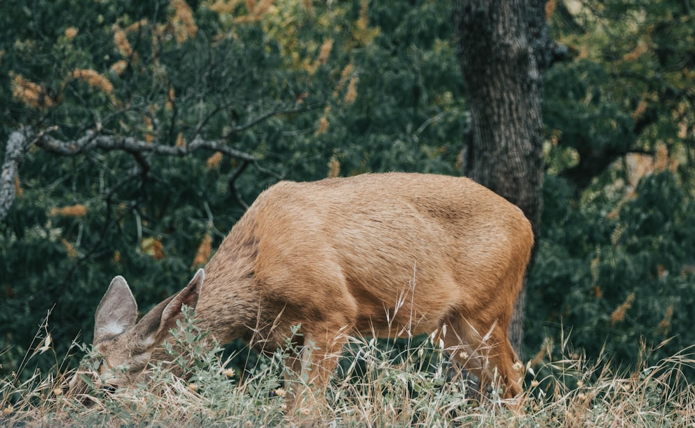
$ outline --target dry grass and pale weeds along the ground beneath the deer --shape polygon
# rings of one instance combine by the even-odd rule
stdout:
[[[685,374],[695,368],[693,349],[630,372],[581,356],[548,362],[546,354],[545,363],[526,365],[524,411],[516,414],[496,391],[478,401],[466,380],[448,379],[448,359],[429,340],[400,351],[351,338],[325,409],[287,416],[281,388],[285,352],[259,359],[242,379],[219,348],[201,345],[204,335],[195,325],[183,327],[172,340],[183,349],[176,359],[181,377],[154,365],[146,385],[115,394],[92,390],[93,404],[85,406],[64,395],[73,372],[62,370],[56,358],[50,373],[0,379],[0,426],[285,427],[314,421],[333,427],[695,428],[695,387]],[[38,353],[52,352],[46,337],[37,340],[22,370]]]

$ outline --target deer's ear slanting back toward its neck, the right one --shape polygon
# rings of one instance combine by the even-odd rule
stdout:
[[[195,308],[204,277],[203,270],[199,269],[186,288],[154,306],[147,315],[142,317],[134,331],[141,338],[142,346],[155,346],[162,343],[170,329],[176,327],[177,320],[181,319],[183,305]]]

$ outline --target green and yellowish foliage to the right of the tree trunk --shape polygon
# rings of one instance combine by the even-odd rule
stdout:
[[[558,5],[551,27],[575,57],[546,81],[551,138],[527,352],[543,352],[547,337],[557,349],[571,332],[587,356],[634,366],[643,343],[659,359],[694,340],[695,76],[682,43],[694,37],[692,10]]]

